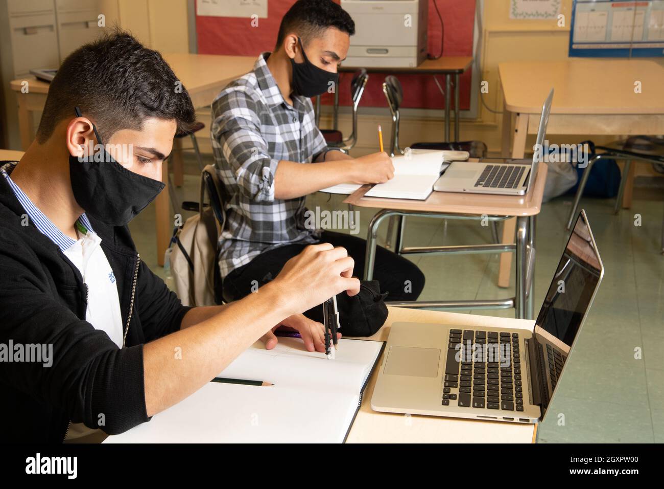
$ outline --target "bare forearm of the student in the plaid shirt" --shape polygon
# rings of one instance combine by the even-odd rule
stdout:
[[[274,178],[274,198],[294,199],[318,192],[321,188],[355,182],[356,173],[354,160],[326,160],[315,164],[282,160]]]

